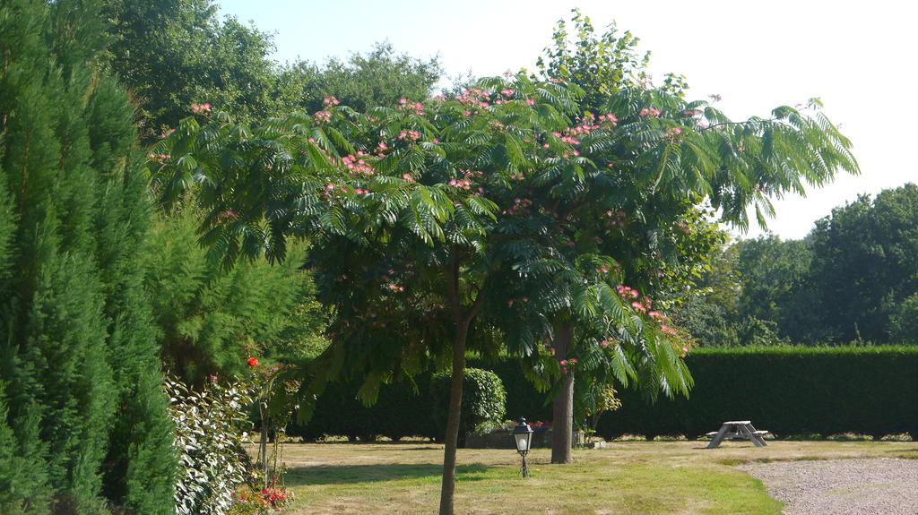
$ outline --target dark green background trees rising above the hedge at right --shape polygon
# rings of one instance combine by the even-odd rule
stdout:
[[[915,198],[906,184],[835,209],[802,240],[733,244],[678,320],[702,345],[913,342]]]

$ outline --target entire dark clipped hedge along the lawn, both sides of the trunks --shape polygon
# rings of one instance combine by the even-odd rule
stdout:
[[[689,399],[648,404],[636,392],[621,392],[622,408],[605,413],[598,433],[697,437],[728,420],[751,420],[758,429],[785,437],[798,434],[862,433],[918,437],[918,347],[769,347],[700,349],[688,358],[695,378]],[[497,373],[507,390],[507,416],[551,420],[551,405],[532,388],[520,366],[471,360]],[[316,416],[291,434],[319,438],[385,435],[441,437],[433,422],[430,375],[408,385],[387,385],[379,402],[365,408],[353,385],[336,384],[319,400]]]

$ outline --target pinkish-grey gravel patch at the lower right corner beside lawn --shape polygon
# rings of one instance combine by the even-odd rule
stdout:
[[[918,460],[840,459],[739,466],[786,515],[916,515]]]

